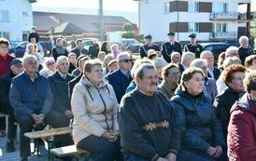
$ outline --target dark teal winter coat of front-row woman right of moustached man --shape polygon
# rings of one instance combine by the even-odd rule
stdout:
[[[178,89],[171,104],[181,125],[181,149],[206,152],[209,146],[225,144],[220,121],[206,94],[192,96]]]

